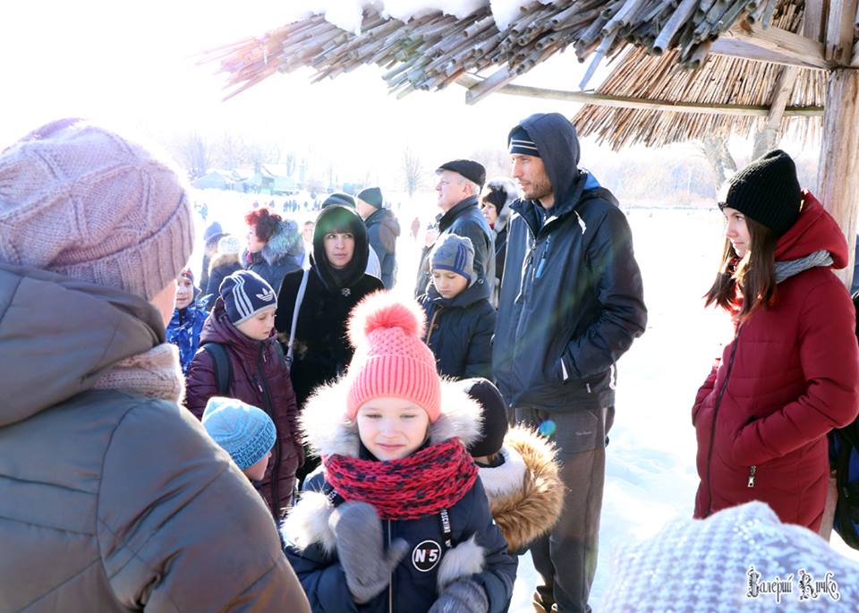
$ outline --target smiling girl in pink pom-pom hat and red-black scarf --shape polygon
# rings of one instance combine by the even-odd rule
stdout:
[[[315,611],[500,613],[516,561],[465,445],[480,408],[438,378],[417,303],[371,294],[353,311],[344,377],[302,414],[322,466],[282,527]]]

